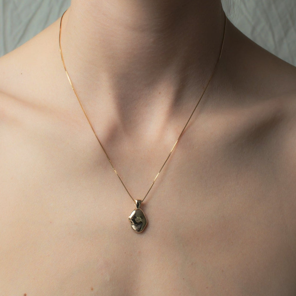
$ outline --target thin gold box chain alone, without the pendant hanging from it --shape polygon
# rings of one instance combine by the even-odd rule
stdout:
[[[66,11],[65,11],[65,12],[66,12]],[[98,142],[99,142],[100,146],[102,147],[102,149],[103,149],[103,151],[104,151],[104,153],[105,153],[107,159],[109,160],[110,165],[112,166],[112,168],[113,168],[115,174],[116,174],[117,177],[119,178],[121,184],[123,185],[124,189],[126,189],[126,192],[127,192],[128,195],[131,197],[131,199],[133,200],[133,202],[136,202],[135,199],[134,199],[134,198],[131,196],[131,194],[129,193],[129,191],[128,191],[128,189],[126,188],[125,184],[123,183],[122,179],[121,179],[120,176],[118,175],[118,173],[117,173],[117,171],[116,171],[116,169],[115,169],[115,167],[114,167],[112,161],[110,160],[110,157],[108,156],[108,154],[107,154],[106,150],[104,149],[104,147],[103,147],[101,141],[99,140],[99,137],[97,136],[97,134],[96,134],[96,132],[95,132],[95,130],[94,130],[94,128],[93,128],[93,126],[92,126],[92,124],[91,124],[89,118],[88,118],[88,116],[86,115],[86,112],[85,112],[85,110],[84,110],[84,108],[83,108],[83,106],[82,106],[82,104],[81,104],[81,101],[80,101],[80,99],[79,99],[79,97],[78,97],[78,95],[77,95],[77,93],[76,93],[76,91],[75,91],[75,89],[74,89],[73,83],[72,83],[72,81],[71,81],[71,79],[70,79],[70,76],[69,76],[69,74],[68,74],[68,71],[67,71],[67,69],[66,69],[65,61],[64,61],[64,57],[63,57],[63,53],[62,53],[62,46],[61,46],[62,19],[63,19],[63,16],[64,16],[65,12],[63,13],[63,15],[62,15],[62,17],[61,17],[60,27],[59,27],[59,51],[60,51],[60,54],[61,54],[61,58],[62,58],[62,62],[63,62],[63,66],[64,66],[64,69],[65,69],[65,72],[66,72],[67,78],[68,78],[68,80],[69,80],[69,82],[70,82],[70,85],[71,85],[71,87],[72,87],[72,89],[73,89],[73,91],[74,91],[74,94],[75,94],[75,96],[76,96],[76,98],[77,98],[77,100],[78,100],[78,103],[79,103],[79,105],[80,105],[80,107],[81,107],[81,109],[82,109],[82,111],[83,111],[83,113],[84,113],[84,115],[85,115],[85,117],[86,117],[86,119],[87,119],[87,121],[88,121],[88,123],[89,123],[89,125],[90,125],[90,127],[91,127],[91,129],[92,129],[92,131],[93,131],[93,133],[94,133],[94,135],[96,136],[96,139],[98,140]],[[213,73],[211,74],[210,79],[208,80],[207,85],[206,85],[204,91],[202,92],[202,94],[201,94],[199,100],[197,101],[196,106],[194,107],[194,109],[193,109],[191,115],[189,116],[189,118],[188,118],[188,120],[187,120],[187,122],[186,122],[184,128],[182,129],[182,131],[181,131],[181,133],[180,133],[180,135],[179,135],[177,141],[175,142],[173,148],[170,150],[170,153],[169,153],[168,157],[166,158],[166,160],[165,160],[165,162],[163,163],[162,167],[160,168],[159,172],[158,172],[157,175],[155,176],[155,178],[154,178],[152,184],[150,185],[148,192],[147,192],[146,195],[144,196],[142,202],[143,202],[144,199],[147,197],[147,195],[148,195],[148,193],[150,192],[152,186],[154,185],[154,183],[155,183],[157,177],[159,176],[160,172],[162,171],[163,167],[165,166],[166,162],[168,161],[170,155],[172,154],[173,150],[175,149],[175,147],[176,147],[176,145],[177,145],[179,139],[181,138],[181,136],[182,136],[182,134],[183,134],[183,132],[184,132],[186,126],[187,126],[188,123],[189,123],[189,120],[192,118],[192,115],[193,115],[194,111],[196,110],[196,108],[197,108],[197,106],[198,106],[200,100],[202,99],[203,95],[205,94],[205,91],[207,90],[207,87],[208,87],[208,85],[210,84],[210,82],[211,82],[211,80],[212,80],[212,78],[213,78],[213,76],[214,76],[214,74],[215,74],[215,72],[216,72],[216,69],[217,69],[217,67],[218,67],[218,63],[219,63],[219,61],[220,61],[220,59],[221,59],[221,56],[222,56],[222,51],[223,51],[223,46],[224,46],[224,40],[225,40],[227,17],[226,17],[225,14],[224,14],[224,16],[225,16],[225,25],[224,25],[223,41],[222,41],[222,45],[221,45],[220,55],[219,55],[218,61],[216,62],[216,65],[215,65],[215,68],[214,68],[214,70],[213,70]]]

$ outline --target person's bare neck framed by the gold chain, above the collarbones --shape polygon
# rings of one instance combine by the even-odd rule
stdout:
[[[94,109],[112,110],[127,129],[188,118],[218,60],[224,21],[220,0],[72,0],[62,50],[91,121]]]

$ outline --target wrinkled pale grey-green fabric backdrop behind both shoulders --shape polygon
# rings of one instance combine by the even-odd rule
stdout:
[[[0,0],[0,56],[57,20],[70,3],[70,0]],[[296,0],[222,0],[222,3],[227,17],[239,30],[296,66]]]

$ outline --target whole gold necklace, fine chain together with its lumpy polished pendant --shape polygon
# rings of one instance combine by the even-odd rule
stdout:
[[[65,12],[66,12],[66,11],[65,11]],[[93,126],[92,126],[92,124],[91,124],[91,122],[90,122],[90,120],[89,120],[89,117],[86,115],[86,112],[85,112],[85,110],[84,110],[84,108],[83,108],[83,106],[82,106],[82,104],[81,104],[81,101],[80,101],[80,99],[79,99],[79,97],[78,97],[78,95],[77,95],[77,93],[76,93],[76,91],[75,91],[75,89],[74,89],[73,83],[72,83],[72,81],[71,81],[71,79],[70,79],[70,76],[69,76],[69,74],[68,74],[68,72],[67,72],[67,69],[66,69],[66,66],[65,66],[64,57],[63,57],[63,53],[62,53],[62,46],[61,46],[62,19],[63,19],[63,16],[65,15],[65,12],[63,13],[63,15],[62,15],[62,17],[61,17],[60,27],[59,27],[59,51],[60,51],[60,54],[61,54],[62,63],[63,63],[64,69],[65,69],[65,72],[66,72],[67,78],[68,78],[68,80],[69,80],[69,82],[70,82],[70,85],[71,85],[71,87],[72,87],[72,89],[73,89],[73,91],[74,91],[74,94],[75,94],[75,96],[76,96],[76,98],[77,98],[77,100],[78,100],[78,103],[79,103],[79,105],[80,105],[80,107],[81,107],[81,109],[82,109],[82,111],[83,111],[83,113],[84,113],[84,115],[85,115],[85,117],[86,117],[86,119],[87,119],[87,121],[88,121],[88,123],[89,123],[89,125],[90,125],[90,127],[91,127],[91,129],[92,129],[92,131],[93,131],[93,133],[94,133],[94,135],[96,136],[96,139],[98,140],[98,142],[99,142],[99,144],[100,144],[100,146],[101,146],[103,152],[105,153],[105,155],[106,155],[106,157],[107,157],[107,159],[108,159],[110,165],[112,166],[112,168],[113,168],[115,174],[116,174],[117,177],[119,178],[121,184],[123,185],[124,189],[125,189],[126,192],[128,193],[129,197],[130,197],[130,198],[133,200],[133,202],[135,203],[135,209],[131,212],[131,215],[129,215],[129,217],[128,217],[128,220],[131,222],[131,228],[132,228],[134,231],[136,231],[137,233],[142,232],[142,231],[144,230],[145,226],[147,225],[147,218],[146,218],[146,216],[145,216],[143,210],[140,208],[141,203],[142,203],[142,202],[145,200],[145,198],[147,197],[147,195],[148,195],[148,193],[150,192],[152,186],[154,185],[154,183],[155,183],[157,177],[159,176],[160,172],[162,171],[163,167],[165,166],[166,162],[168,161],[170,155],[172,154],[173,150],[175,149],[175,147],[176,147],[176,145],[177,145],[179,139],[181,138],[181,136],[182,136],[182,134],[183,134],[183,132],[184,132],[186,126],[187,126],[188,123],[189,123],[189,120],[191,119],[191,117],[192,117],[194,111],[196,110],[196,108],[197,108],[197,106],[198,106],[200,100],[202,99],[203,95],[205,94],[205,91],[206,91],[208,85],[210,84],[210,81],[212,80],[212,78],[213,78],[213,76],[214,76],[214,74],[215,74],[215,72],[216,72],[216,69],[217,69],[217,67],[218,67],[218,63],[219,63],[220,58],[221,58],[221,55],[222,55],[222,50],[223,50],[223,45],[224,45],[224,40],[225,40],[225,33],[226,33],[227,17],[226,17],[226,15],[225,15],[225,13],[224,13],[224,16],[225,16],[225,25],[224,25],[224,32],[223,32],[223,41],[222,41],[222,45],[221,45],[220,55],[219,55],[218,61],[216,62],[216,65],[215,65],[215,68],[214,68],[214,70],[213,70],[213,73],[211,74],[211,76],[210,76],[210,78],[209,78],[209,80],[208,80],[208,82],[207,82],[207,85],[205,86],[205,89],[203,90],[203,92],[202,92],[200,98],[198,99],[197,104],[195,105],[195,107],[194,107],[194,109],[193,109],[191,115],[189,116],[189,119],[187,120],[187,122],[186,122],[186,124],[185,124],[183,130],[181,131],[181,133],[180,133],[180,135],[179,135],[177,141],[176,141],[175,144],[173,145],[173,148],[170,150],[170,153],[169,153],[168,157],[166,158],[166,160],[165,160],[165,162],[163,163],[162,167],[160,168],[159,172],[158,172],[157,175],[155,176],[155,178],[154,178],[152,184],[150,185],[150,188],[149,188],[148,192],[147,192],[146,195],[144,196],[143,200],[136,200],[136,199],[134,199],[134,198],[131,196],[131,194],[129,193],[128,189],[126,188],[126,185],[123,183],[122,179],[121,179],[120,176],[118,175],[118,173],[117,173],[117,171],[116,171],[114,165],[112,164],[112,162],[111,162],[111,160],[110,160],[110,157],[107,155],[107,152],[106,152],[106,150],[104,149],[104,147],[103,147],[101,141],[99,140],[99,137],[97,136],[96,132],[94,131],[94,128],[93,128]]]

